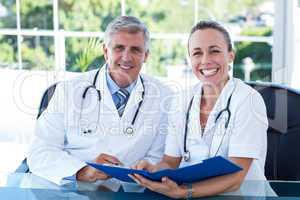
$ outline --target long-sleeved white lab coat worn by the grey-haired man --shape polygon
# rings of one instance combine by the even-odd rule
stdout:
[[[84,73],[70,81],[59,83],[46,111],[37,121],[35,136],[28,154],[30,171],[60,184],[64,177],[74,175],[101,153],[116,156],[127,166],[138,160],[158,162],[164,151],[167,112],[171,90],[159,81],[142,75],[145,96],[134,124],[134,134],[124,134],[142,100],[141,80],[132,90],[123,116],[120,118],[108,89],[105,68],[100,70],[96,88],[88,91],[80,108],[84,89],[92,85],[96,70]],[[100,119],[97,123],[98,106]],[[84,135],[81,128],[92,128]],[[94,129],[93,129],[94,128]]]

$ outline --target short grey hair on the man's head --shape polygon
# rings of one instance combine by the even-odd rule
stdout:
[[[104,33],[104,43],[109,46],[111,43],[111,36],[117,32],[126,31],[128,33],[142,32],[144,34],[144,43],[146,51],[150,48],[150,34],[144,23],[133,16],[120,16],[110,22]]]

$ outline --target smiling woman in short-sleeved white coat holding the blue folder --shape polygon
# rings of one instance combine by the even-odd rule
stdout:
[[[157,171],[220,155],[242,170],[189,185],[177,185],[167,177],[161,182],[136,174],[131,177],[173,198],[216,195],[237,190],[245,179],[265,180],[266,108],[258,92],[229,77],[235,54],[228,32],[217,22],[199,22],[191,30],[188,53],[200,82],[190,95],[181,95],[173,104],[179,111],[170,116],[163,159],[156,165],[140,161],[134,168]]]

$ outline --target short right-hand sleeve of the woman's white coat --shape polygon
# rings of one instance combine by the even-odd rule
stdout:
[[[247,157],[264,164],[268,119],[262,96],[239,79],[232,97],[229,157]],[[262,165],[263,165],[262,164]]]

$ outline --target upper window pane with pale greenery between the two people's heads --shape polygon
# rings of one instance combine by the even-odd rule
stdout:
[[[194,24],[194,1],[127,0],[126,4],[126,13],[140,18],[152,33],[186,33]]]

